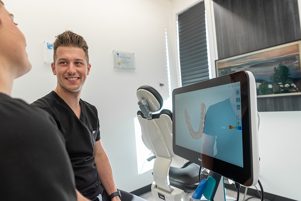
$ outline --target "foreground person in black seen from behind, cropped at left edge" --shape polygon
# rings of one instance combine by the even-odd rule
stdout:
[[[31,70],[23,33],[0,0],[0,200],[76,201],[65,140],[51,115],[11,98]]]

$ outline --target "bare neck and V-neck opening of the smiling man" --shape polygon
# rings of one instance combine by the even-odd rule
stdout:
[[[81,113],[81,106],[79,104],[81,91],[78,92],[70,92],[63,89],[59,84],[54,89],[54,92],[61,97],[69,105],[69,107],[73,110],[76,116],[79,118]]]

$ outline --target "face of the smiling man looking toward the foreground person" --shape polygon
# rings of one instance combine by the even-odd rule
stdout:
[[[57,76],[61,88],[68,92],[80,92],[89,75],[91,64],[87,64],[85,52],[81,48],[58,47],[52,72]]]

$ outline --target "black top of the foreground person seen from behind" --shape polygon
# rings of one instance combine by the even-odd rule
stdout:
[[[0,181],[0,200],[77,200],[64,137],[53,118],[2,93]]]

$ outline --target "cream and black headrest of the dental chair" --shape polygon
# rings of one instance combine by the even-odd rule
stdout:
[[[148,109],[151,112],[159,111],[163,106],[163,98],[159,92],[151,86],[141,86],[137,89],[138,100],[147,100]]]

